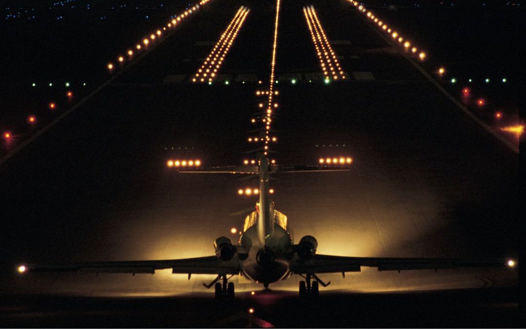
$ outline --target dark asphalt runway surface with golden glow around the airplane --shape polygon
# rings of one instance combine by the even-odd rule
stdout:
[[[275,158],[279,164],[314,165],[319,157],[351,156],[353,163],[345,173],[284,175],[271,182],[276,208],[288,216],[295,241],[313,235],[318,253],[345,256],[517,257],[518,155],[463,114],[348,3],[313,2],[349,77],[345,82],[320,81],[301,13],[302,6],[310,4],[298,1],[282,7],[276,68],[280,95],[274,124],[279,138],[274,149],[279,153]],[[251,12],[220,70],[220,78],[229,84],[189,83],[241,5]],[[126,303],[137,301],[124,297],[164,297],[137,302],[153,303],[139,307],[151,314],[164,310],[151,305],[160,301],[182,305],[180,296],[195,301],[193,293],[205,305],[213,302],[213,292],[202,285],[213,276],[194,275],[189,281],[186,275],[169,271],[153,276],[19,276],[14,270],[19,263],[32,262],[207,256],[214,253],[216,237],[236,240],[230,228],[242,228],[256,202],[254,197],[238,196],[237,190],[250,182],[229,175],[177,174],[166,160],[196,155],[204,165],[237,165],[247,158],[242,152],[251,148],[246,131],[254,128],[250,118],[257,112],[255,91],[264,86],[259,80],[268,80],[274,6],[273,2],[214,0],[0,166],[0,294],[5,297],[0,318],[9,318],[13,325],[39,323],[31,312],[16,310],[34,305],[42,310],[45,301],[66,305],[69,300],[63,295],[75,296],[75,303],[85,306],[93,304],[87,297],[119,297],[123,306],[108,306],[107,311],[117,318],[126,318],[127,313],[118,310],[129,310]],[[345,279],[341,274],[321,278],[331,281],[321,291],[322,297],[343,301],[340,305],[346,307],[356,306],[352,303],[362,298],[365,305],[386,306],[392,305],[390,301],[410,300],[409,292],[454,290],[472,304],[478,298],[473,296],[482,294],[495,323],[511,316],[513,325],[518,317],[513,293],[517,270],[391,273],[362,268]],[[277,307],[269,306],[274,301],[281,305],[284,300],[291,312],[295,307],[305,310],[292,298],[298,289],[297,277],[271,285],[272,292],[261,294],[265,302],[253,302],[244,294],[256,291],[259,296],[262,286],[242,278],[233,280],[242,297],[228,311],[231,314],[225,314],[243,312],[254,303],[259,309],[271,309]],[[495,288],[465,290],[481,287]],[[379,292],[388,294],[369,294]],[[32,302],[34,294],[54,297]],[[450,304],[454,298],[443,294],[447,293],[418,293],[415,298],[431,296],[438,305]],[[28,308],[15,310],[16,305]],[[62,322],[66,326],[82,318],[75,316],[71,306],[64,307],[69,310]],[[481,307],[474,313],[484,314]],[[429,312],[433,308],[429,303],[422,306]],[[322,314],[329,316],[324,309]],[[410,313],[409,308],[404,310],[403,314]],[[375,308],[367,314],[374,317],[384,311]],[[13,321],[16,312],[30,320]],[[195,316],[208,313],[195,312]],[[277,312],[269,314],[266,321],[291,325]],[[220,318],[212,320],[217,324]],[[363,326],[366,320],[362,318]],[[418,325],[416,318],[412,320],[395,323]],[[238,325],[237,320],[228,321],[226,326]],[[352,324],[347,320],[330,323]],[[389,322],[376,324],[385,323]]]

